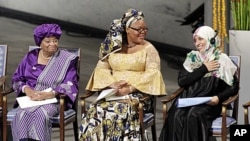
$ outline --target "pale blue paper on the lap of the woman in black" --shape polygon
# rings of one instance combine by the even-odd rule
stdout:
[[[209,102],[211,99],[212,97],[178,98],[177,107],[182,108],[182,107],[204,104]]]

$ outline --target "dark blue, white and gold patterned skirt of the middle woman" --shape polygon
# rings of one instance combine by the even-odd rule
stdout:
[[[91,104],[82,115],[80,141],[134,141],[140,140],[140,122],[137,114],[138,97],[131,100],[100,101]]]

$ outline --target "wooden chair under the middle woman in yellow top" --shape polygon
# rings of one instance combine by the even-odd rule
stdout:
[[[86,113],[86,99],[88,97],[93,96],[96,93],[98,93],[98,92],[88,91],[85,95],[80,96],[81,114]],[[147,138],[146,136],[144,136],[144,133],[145,133],[146,129],[148,129],[149,127],[151,127],[152,140],[157,141],[156,126],[155,126],[156,125],[155,114],[156,114],[156,98],[157,98],[157,96],[153,96],[152,109],[147,113],[144,113],[144,111],[143,111],[143,105],[144,105],[143,102],[150,99],[150,98],[152,98],[152,97],[150,97],[148,95],[148,96],[144,96],[144,97],[139,99],[138,114],[139,114],[141,135],[142,135],[143,141]]]

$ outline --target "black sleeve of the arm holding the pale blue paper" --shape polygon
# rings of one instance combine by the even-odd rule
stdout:
[[[227,100],[230,96],[236,95],[239,91],[239,80],[236,76],[234,76],[234,83],[232,86],[227,85],[225,82],[224,84],[225,84],[225,90],[218,93],[220,102]]]

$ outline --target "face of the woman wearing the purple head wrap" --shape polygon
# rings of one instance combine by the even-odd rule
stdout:
[[[42,40],[40,47],[44,52],[55,53],[58,48],[58,39],[54,36],[45,37]]]

